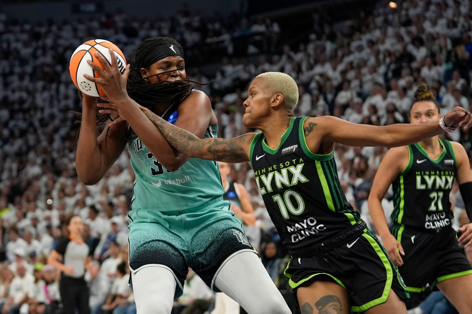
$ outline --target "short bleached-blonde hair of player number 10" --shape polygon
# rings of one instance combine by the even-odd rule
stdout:
[[[293,110],[298,103],[298,86],[294,79],[282,72],[265,72],[256,77],[264,78],[267,88],[274,94],[284,96],[284,104],[289,110]]]

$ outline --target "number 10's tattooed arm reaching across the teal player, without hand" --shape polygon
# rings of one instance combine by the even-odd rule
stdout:
[[[249,144],[253,135],[244,134],[233,139],[205,138],[181,129],[154,113],[145,113],[146,117],[160,130],[170,145],[180,153],[207,160],[236,162],[248,159],[241,145]]]

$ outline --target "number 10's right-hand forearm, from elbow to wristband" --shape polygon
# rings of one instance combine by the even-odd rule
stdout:
[[[444,132],[438,122],[392,124],[381,128],[383,132],[379,135],[385,137],[387,147],[411,145]]]

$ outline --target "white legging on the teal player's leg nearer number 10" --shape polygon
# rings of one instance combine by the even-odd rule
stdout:
[[[248,314],[292,313],[261,260],[253,252],[236,252],[228,258],[213,283]]]

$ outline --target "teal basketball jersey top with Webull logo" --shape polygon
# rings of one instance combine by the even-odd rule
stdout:
[[[162,118],[173,124],[178,117],[179,104],[171,105]],[[203,138],[217,137],[217,132],[218,125],[209,126]],[[152,156],[131,127],[128,128],[127,142],[136,177],[132,209],[191,209],[225,193],[216,161],[190,158],[176,171],[169,171]]]

